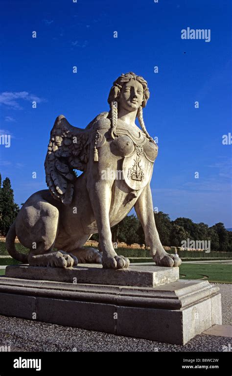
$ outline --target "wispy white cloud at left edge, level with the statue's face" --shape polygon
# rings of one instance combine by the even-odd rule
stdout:
[[[0,93],[0,104],[13,108],[14,110],[22,110],[23,107],[19,104],[20,100],[26,100],[29,102],[36,101],[41,103],[45,101],[43,98],[39,98],[34,94],[27,92],[3,92]]]

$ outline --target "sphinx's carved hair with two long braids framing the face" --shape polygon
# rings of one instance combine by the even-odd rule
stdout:
[[[149,136],[149,134],[146,130],[144,120],[143,120],[143,114],[142,114],[142,108],[146,106],[147,100],[150,97],[150,93],[149,93],[149,90],[148,90],[148,87],[147,87],[147,82],[144,80],[143,77],[137,76],[133,72],[129,72],[129,73],[125,73],[125,74],[122,73],[116,79],[116,81],[113,83],[113,86],[110,90],[110,94],[109,94],[109,97],[108,97],[108,103],[110,105],[109,118],[111,118],[111,135],[112,135],[113,138],[115,138],[115,136],[117,136],[117,134],[116,134],[117,108],[118,108],[118,101],[119,101],[119,97],[120,97],[120,94],[121,94],[122,86],[126,82],[129,82],[131,79],[137,80],[143,87],[143,100],[142,100],[141,106],[138,109],[137,118],[139,120],[139,124],[140,124],[140,127],[141,127],[143,133],[146,135],[146,137],[150,141],[153,141],[152,137]]]

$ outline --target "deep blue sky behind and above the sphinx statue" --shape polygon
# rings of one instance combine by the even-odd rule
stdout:
[[[134,71],[148,81],[144,120],[159,138],[154,207],[232,227],[232,145],[222,144],[232,120],[230,15],[230,0],[2,0],[0,134],[11,145],[0,145],[0,172],[16,202],[46,188],[55,118],[85,128],[108,111],[116,77]],[[210,42],[181,39],[187,27],[210,29]]]

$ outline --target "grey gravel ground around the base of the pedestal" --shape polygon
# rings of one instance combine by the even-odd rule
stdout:
[[[221,283],[217,285],[220,286],[222,294],[223,324],[231,325],[231,285]],[[201,334],[185,346],[170,345],[145,339],[0,316],[0,346],[11,346],[11,351],[221,352],[222,346],[229,343],[232,343],[230,337]]]

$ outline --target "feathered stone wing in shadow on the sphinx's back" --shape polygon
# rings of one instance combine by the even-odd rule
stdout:
[[[52,195],[65,205],[72,200],[76,174],[85,170],[89,159],[91,129],[73,127],[61,115],[51,130],[45,160],[46,184]]]

